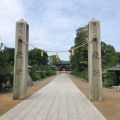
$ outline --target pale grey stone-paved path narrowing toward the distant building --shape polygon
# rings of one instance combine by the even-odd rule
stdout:
[[[105,120],[66,73],[0,117],[0,120]]]

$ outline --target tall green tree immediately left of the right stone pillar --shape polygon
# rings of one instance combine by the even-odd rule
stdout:
[[[83,45],[88,38],[87,35],[87,26],[79,28],[76,30],[76,38],[74,40],[74,46],[71,48],[75,48]],[[84,71],[87,69],[87,61],[88,61],[88,50],[87,45],[84,47],[80,47],[74,50],[74,56],[70,56],[70,65],[72,69],[76,69],[76,71]]]

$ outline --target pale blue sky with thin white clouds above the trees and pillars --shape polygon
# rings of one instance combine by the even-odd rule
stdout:
[[[119,6],[120,0],[0,0],[0,43],[14,48],[16,22],[24,19],[31,45],[48,51],[69,50],[76,30],[95,17],[100,21],[101,41],[120,52]],[[58,55],[69,60],[69,52]]]

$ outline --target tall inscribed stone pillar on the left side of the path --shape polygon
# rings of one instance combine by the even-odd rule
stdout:
[[[29,26],[21,19],[16,23],[13,99],[24,100],[27,97],[28,81],[28,42]],[[23,42],[24,40],[25,42]]]

